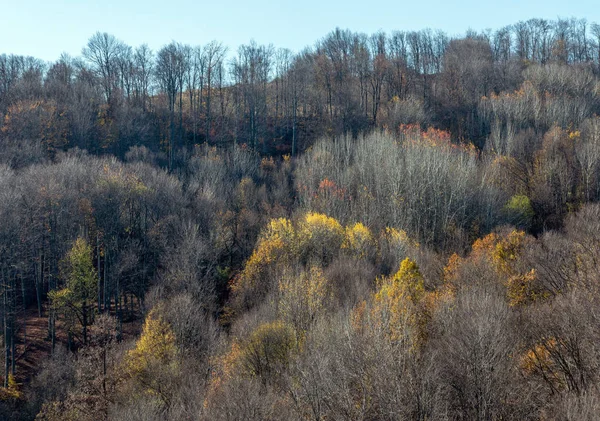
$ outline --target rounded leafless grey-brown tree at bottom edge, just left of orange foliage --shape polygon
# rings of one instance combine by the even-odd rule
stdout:
[[[497,288],[473,287],[438,313],[441,380],[451,418],[523,418],[532,389],[521,389],[513,355],[513,314]],[[524,412],[527,414],[527,412]]]

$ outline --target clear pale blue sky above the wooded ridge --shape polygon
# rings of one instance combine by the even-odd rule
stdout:
[[[255,39],[298,51],[336,26],[356,32],[496,29],[532,17],[600,22],[598,0],[1,0],[0,53],[55,60],[78,56],[96,31],[157,50],[172,40]]]

